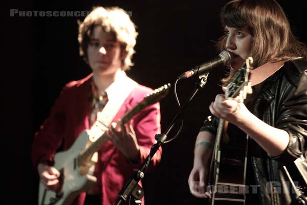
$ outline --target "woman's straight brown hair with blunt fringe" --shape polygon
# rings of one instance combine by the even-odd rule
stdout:
[[[222,8],[221,23],[223,27],[245,28],[254,37],[254,68],[269,61],[307,57],[306,45],[293,35],[286,14],[275,0],[233,0]],[[218,50],[226,49],[226,39],[224,35],[218,40]],[[229,77],[222,81],[227,82]]]

